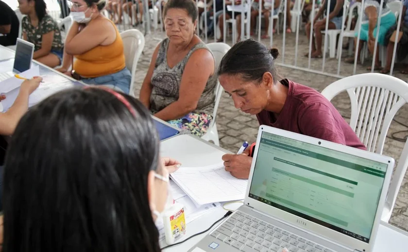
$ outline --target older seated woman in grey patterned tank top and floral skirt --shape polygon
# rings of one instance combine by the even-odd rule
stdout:
[[[214,110],[215,60],[194,33],[198,16],[194,1],[169,0],[163,16],[168,38],[153,52],[140,101],[155,117],[201,137]]]

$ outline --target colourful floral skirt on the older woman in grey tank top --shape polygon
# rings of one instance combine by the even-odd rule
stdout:
[[[193,135],[197,137],[202,137],[210,126],[212,116],[206,113],[188,113],[182,118],[171,120],[170,123],[180,129],[185,129],[190,131]]]

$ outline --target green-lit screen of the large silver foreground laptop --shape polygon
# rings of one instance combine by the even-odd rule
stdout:
[[[249,197],[369,242],[387,164],[262,132]]]

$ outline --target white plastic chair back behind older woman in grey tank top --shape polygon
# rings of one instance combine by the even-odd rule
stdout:
[[[211,52],[214,55],[214,59],[215,59],[215,73],[214,74],[217,74],[218,67],[222,60],[222,57],[224,57],[225,53],[227,53],[227,51],[231,49],[231,47],[224,43],[209,43],[207,44],[207,47],[211,50]],[[220,104],[221,94],[223,91],[224,89],[221,87],[220,82],[217,80],[217,86],[215,87],[215,105],[214,105],[214,111],[213,111],[213,119],[211,121],[210,126],[212,126],[215,123],[215,118],[217,117],[218,105]]]

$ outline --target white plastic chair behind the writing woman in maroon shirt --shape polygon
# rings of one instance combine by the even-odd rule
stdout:
[[[395,77],[368,73],[349,76],[333,82],[322,94],[328,100],[347,91],[351,102],[350,126],[367,150],[382,154],[385,138],[395,113],[408,102],[407,82]],[[388,222],[408,166],[408,141],[391,179],[381,216]]]

